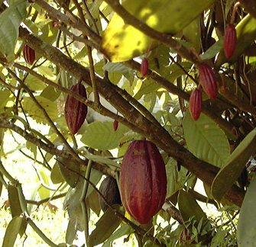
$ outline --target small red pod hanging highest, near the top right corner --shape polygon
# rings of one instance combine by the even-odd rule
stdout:
[[[234,25],[228,25],[225,29],[224,35],[224,52],[227,59],[231,58],[236,47],[237,37]]]

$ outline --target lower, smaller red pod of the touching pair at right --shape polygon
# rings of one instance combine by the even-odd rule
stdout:
[[[190,95],[190,114],[198,120],[202,111],[202,91],[195,89]]]

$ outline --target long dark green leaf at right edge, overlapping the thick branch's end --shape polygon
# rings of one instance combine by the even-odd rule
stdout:
[[[212,196],[221,200],[225,193],[237,181],[248,159],[256,149],[256,129],[251,130],[225,162],[212,183]]]

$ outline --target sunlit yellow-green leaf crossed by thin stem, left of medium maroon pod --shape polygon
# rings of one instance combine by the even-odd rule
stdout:
[[[48,100],[42,96],[35,97],[37,102],[41,104],[41,107],[44,107],[44,110],[47,111],[51,120],[55,120],[58,117],[57,104],[53,101]],[[47,123],[43,111],[41,111],[37,105],[34,103],[31,98],[24,98],[23,100],[24,109],[28,112],[29,116],[32,117],[37,123]]]

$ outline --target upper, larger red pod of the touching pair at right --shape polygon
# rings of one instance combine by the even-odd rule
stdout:
[[[212,68],[208,64],[202,63],[199,65],[198,69],[200,84],[202,85],[203,90],[206,92],[206,95],[215,99],[218,93],[218,84]]]

